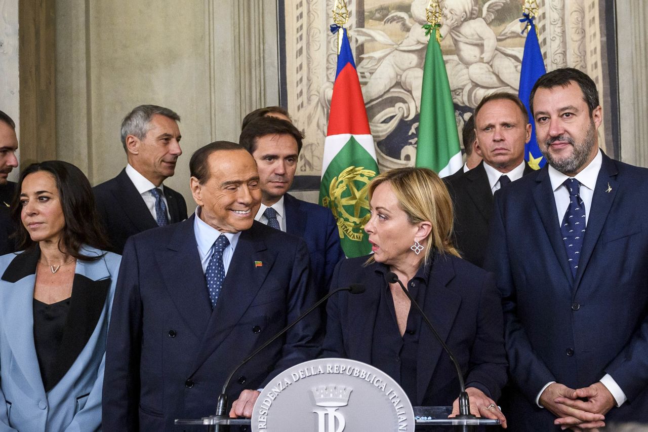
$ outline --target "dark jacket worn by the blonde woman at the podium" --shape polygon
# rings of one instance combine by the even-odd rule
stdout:
[[[362,294],[335,294],[327,306],[326,357],[344,357],[371,364],[371,341],[380,300],[387,289],[379,263],[363,266],[367,256],[338,264],[331,289],[364,283]],[[405,282],[405,281],[404,281]],[[466,387],[477,387],[494,400],[506,383],[502,337],[502,306],[494,278],[452,256],[436,256],[421,305],[432,325],[456,355]],[[417,397],[413,405],[452,405],[459,396],[457,372],[439,342],[424,324],[419,337]]]

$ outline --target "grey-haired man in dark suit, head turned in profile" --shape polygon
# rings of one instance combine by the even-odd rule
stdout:
[[[187,219],[185,198],[162,184],[182,154],[179,121],[178,114],[156,105],[137,106],[124,117],[121,141],[128,164],[94,188],[112,252],[121,254],[133,234]]]

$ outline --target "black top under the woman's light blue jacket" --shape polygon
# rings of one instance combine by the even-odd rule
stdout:
[[[54,377],[56,358],[63,340],[63,330],[70,310],[71,297],[47,304],[34,298],[34,346],[45,392],[60,380]]]

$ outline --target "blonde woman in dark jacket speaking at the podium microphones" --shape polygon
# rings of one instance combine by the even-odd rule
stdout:
[[[388,283],[395,274],[457,357],[470,412],[506,427],[496,405],[507,381],[500,296],[494,277],[452,245],[445,185],[429,169],[393,169],[373,179],[369,199],[373,254],[341,261],[330,287],[364,283],[367,290],[330,298],[324,356],[369,363],[394,378],[412,405],[454,405],[459,413],[456,369],[399,283]]]

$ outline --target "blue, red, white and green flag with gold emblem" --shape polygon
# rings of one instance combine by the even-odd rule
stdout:
[[[353,258],[371,252],[364,232],[370,217],[367,184],[378,173],[378,163],[349,38],[345,29],[339,31],[342,36],[324,142],[319,204],[333,212],[342,249]]]

